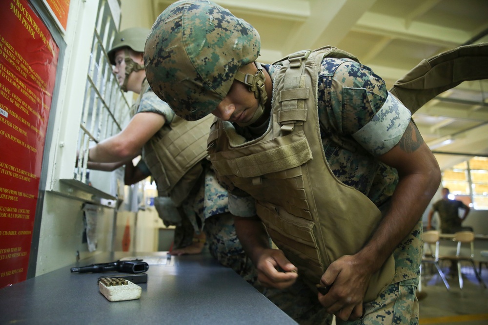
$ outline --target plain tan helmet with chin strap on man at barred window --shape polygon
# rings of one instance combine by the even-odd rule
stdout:
[[[124,29],[115,35],[112,47],[107,52],[110,63],[115,65],[115,53],[118,50],[125,49],[125,79],[123,81],[123,85],[121,86],[124,92],[127,91],[127,81],[129,79],[128,76],[133,71],[140,71],[144,69],[143,64],[136,63],[130,57],[130,53],[127,49],[130,48],[134,52],[144,52],[144,44],[148,34],[149,29],[147,28],[133,27]]]

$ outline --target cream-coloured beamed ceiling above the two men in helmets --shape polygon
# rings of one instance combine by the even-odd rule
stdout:
[[[121,0],[121,29],[150,28],[172,2]],[[388,88],[424,58],[488,42],[488,0],[215,2],[258,30],[262,63],[333,45],[357,56]],[[414,119],[441,169],[472,155],[488,156],[488,80],[463,82],[424,105]]]

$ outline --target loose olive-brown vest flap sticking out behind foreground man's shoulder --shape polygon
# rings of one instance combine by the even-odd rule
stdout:
[[[488,79],[488,44],[460,46],[420,62],[389,90],[415,113],[463,81]]]

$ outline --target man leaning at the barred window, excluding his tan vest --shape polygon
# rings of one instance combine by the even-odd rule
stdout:
[[[154,94],[145,80],[142,52],[148,33],[149,30],[144,28],[125,29],[115,36],[114,43],[107,53],[110,63],[114,65],[114,73],[118,76],[122,90],[140,94],[131,108],[130,115],[132,118],[126,127],[126,129],[130,128],[136,131],[133,134],[121,132],[114,137],[105,139],[99,145],[90,148],[88,155],[89,168],[107,170],[107,165],[104,166],[104,164],[110,164],[113,170],[125,164],[126,171],[132,167],[132,172],[139,172],[135,177],[140,178],[136,181],[151,174],[151,170],[148,167],[150,164],[145,164],[146,153],[148,152],[145,149],[151,149],[165,134],[171,133],[175,127],[173,123],[175,119],[174,112]],[[155,120],[155,116],[152,114],[162,116],[161,121],[163,122],[161,122],[159,130],[155,130],[154,133],[150,134],[148,141],[145,143],[140,141],[140,147],[136,148],[136,152],[139,155],[142,150],[142,160],[134,169],[131,161],[132,157],[124,157],[130,159],[119,161],[118,159],[121,158],[116,156],[119,153],[111,152],[111,150],[120,147],[118,144],[122,142],[127,145],[126,151],[130,151],[127,149],[130,143],[139,141],[138,137],[148,128],[141,121]],[[189,123],[183,121],[183,124],[187,125]],[[190,127],[188,128],[190,132],[194,130]],[[107,157],[108,153],[111,153],[111,156]],[[203,150],[203,157],[205,155],[206,153]],[[116,157],[114,158],[114,156]],[[112,163],[115,163],[115,165]],[[188,195],[185,196],[183,203],[181,203],[181,207],[179,207],[181,213],[177,211],[177,218],[180,220],[177,220],[177,218],[173,219],[179,223],[175,232],[176,246],[174,248],[184,248],[192,245],[194,232],[203,232],[206,236],[210,254],[219,263],[225,267],[232,268],[247,281],[253,283],[256,279],[256,271],[237,239],[233,217],[228,212],[227,191],[215,180],[214,171],[207,159],[203,158],[197,164],[202,165],[203,172],[201,172],[198,181],[188,192]],[[129,182],[127,179],[125,181],[126,183]],[[160,214],[160,217],[162,217],[164,222],[169,222],[167,221],[168,215],[163,213],[163,215]]]

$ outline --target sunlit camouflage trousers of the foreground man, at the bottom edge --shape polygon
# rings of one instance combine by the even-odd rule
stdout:
[[[387,287],[376,300],[364,304],[362,320],[337,325],[416,325],[419,323],[419,302],[415,296],[418,279],[404,280]]]

